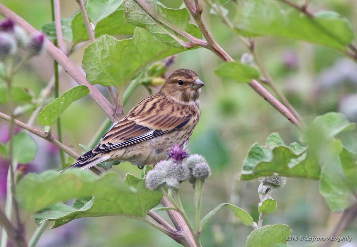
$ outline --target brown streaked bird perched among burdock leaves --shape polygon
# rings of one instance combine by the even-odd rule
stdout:
[[[168,148],[177,143],[182,146],[197,125],[201,114],[198,96],[204,85],[194,71],[176,70],[157,94],[136,104],[95,148],[66,169],[86,169],[114,160],[143,167],[165,159]]]

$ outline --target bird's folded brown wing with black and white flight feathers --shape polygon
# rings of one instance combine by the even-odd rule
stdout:
[[[178,110],[174,102],[160,101],[160,97],[164,96],[153,95],[139,102],[124,119],[113,124],[92,153],[145,141],[181,128],[190,121],[192,114],[188,109]]]

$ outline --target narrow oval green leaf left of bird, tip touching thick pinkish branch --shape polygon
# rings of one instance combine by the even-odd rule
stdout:
[[[84,85],[76,86],[68,90],[40,111],[37,116],[39,124],[52,126],[67,107],[87,94],[89,94],[89,89]]]

